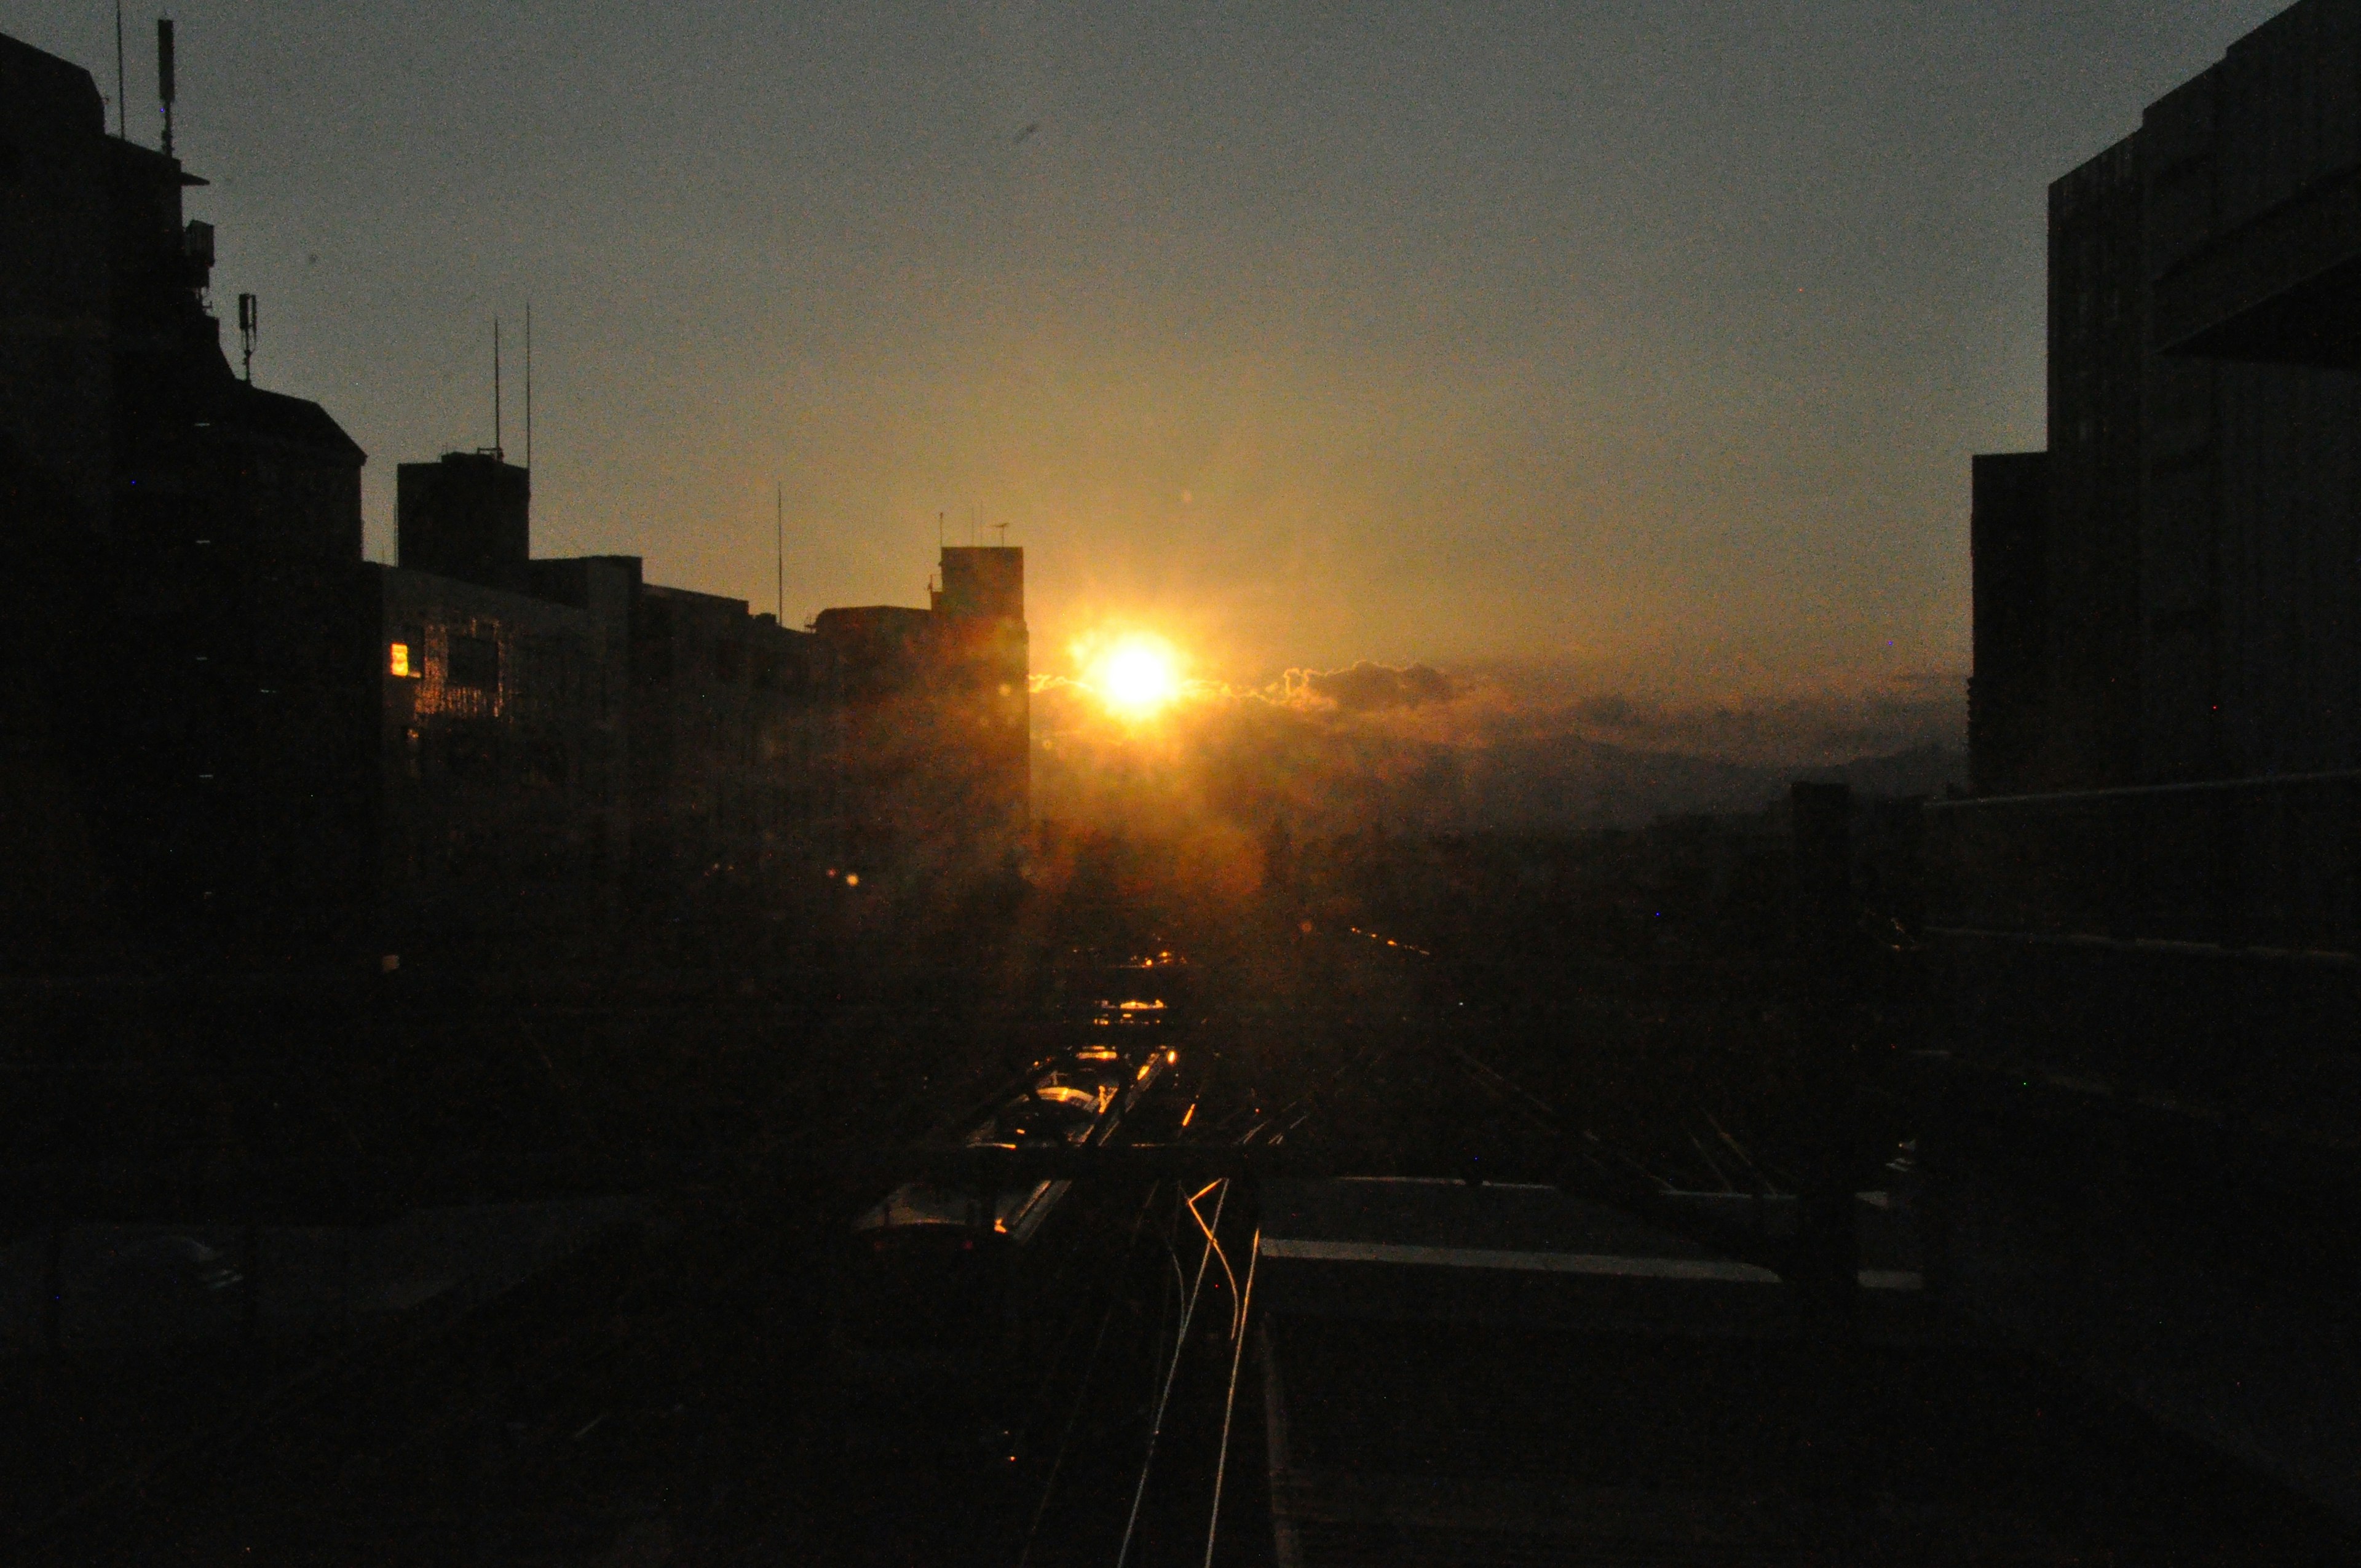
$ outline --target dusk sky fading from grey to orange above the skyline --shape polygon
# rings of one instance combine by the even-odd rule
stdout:
[[[973,512],[1036,671],[1955,692],[2045,184],[2281,5],[189,2],[177,135],[373,557],[529,298],[545,555],[767,609],[784,479],[791,621]],[[109,5],[0,31],[113,92]]]

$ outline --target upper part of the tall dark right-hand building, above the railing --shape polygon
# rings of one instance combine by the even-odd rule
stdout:
[[[2361,765],[2356,26],[2288,9],[2049,189],[2049,451],[1976,508],[2021,786]]]

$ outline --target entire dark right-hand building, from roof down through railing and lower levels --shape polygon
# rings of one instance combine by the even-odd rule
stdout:
[[[1929,810],[1955,1301],[2361,1514],[2361,7],[2049,189],[2049,449],[1976,458]],[[2269,1240],[2264,1240],[2269,1237]]]

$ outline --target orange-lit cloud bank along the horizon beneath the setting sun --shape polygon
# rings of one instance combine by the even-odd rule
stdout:
[[[1879,793],[1962,777],[1948,675],[1674,704],[1535,671],[1360,661],[1265,687],[1197,685],[1147,725],[1034,682],[1041,817],[1131,831],[1577,831],[1757,810],[1804,775]]]

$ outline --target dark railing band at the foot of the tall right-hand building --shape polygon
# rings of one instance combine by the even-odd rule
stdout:
[[[2361,947],[2361,772],[1941,801],[1927,829],[1938,930]]]

